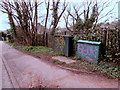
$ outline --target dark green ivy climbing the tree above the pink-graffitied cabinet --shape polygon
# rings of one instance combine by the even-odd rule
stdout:
[[[95,4],[93,6],[91,14],[90,14],[89,7],[88,7],[87,13],[84,12],[84,16],[85,16],[84,20],[82,20],[80,17],[77,17],[76,24],[74,25],[75,29],[77,31],[79,31],[79,30],[83,30],[83,29],[92,28],[94,25],[94,22],[97,18],[97,12],[98,12],[97,4]],[[90,15],[90,17],[89,17],[89,15]]]

